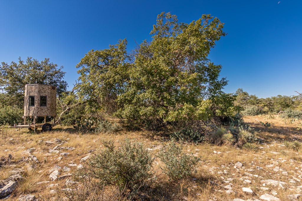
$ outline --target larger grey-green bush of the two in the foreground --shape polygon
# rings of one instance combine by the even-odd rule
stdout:
[[[129,190],[130,196],[153,178],[153,159],[143,144],[126,139],[120,149],[113,142],[104,142],[104,147],[79,170],[78,178],[95,178],[100,186],[117,185]]]

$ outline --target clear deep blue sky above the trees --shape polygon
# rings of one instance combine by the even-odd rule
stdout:
[[[258,97],[302,92],[301,0],[0,0],[0,9],[0,61],[50,58],[64,66],[69,89],[85,53],[124,38],[128,50],[133,49],[135,41],[151,39],[157,14],[165,11],[179,22],[212,14],[225,23],[228,35],[209,58],[223,66],[226,93],[238,88]]]

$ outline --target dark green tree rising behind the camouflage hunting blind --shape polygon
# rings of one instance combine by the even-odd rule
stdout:
[[[63,66],[50,62],[45,58],[39,62],[37,59],[28,57],[26,61],[19,57],[18,62],[11,64],[5,62],[0,65],[0,105],[15,105],[20,108],[24,103],[24,87],[26,84],[50,84],[56,86],[57,95],[66,91],[67,83],[63,80],[65,72]]]

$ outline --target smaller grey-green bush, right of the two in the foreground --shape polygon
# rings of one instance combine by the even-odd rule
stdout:
[[[169,142],[159,152],[159,158],[165,164],[162,171],[169,177],[170,181],[178,182],[189,177],[196,171],[199,158],[188,155],[177,146],[174,141]]]

